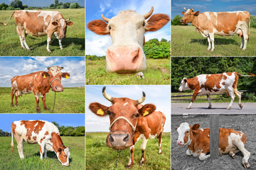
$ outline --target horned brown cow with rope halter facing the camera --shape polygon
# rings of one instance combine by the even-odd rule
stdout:
[[[142,141],[142,158],[140,164],[144,164],[146,142],[154,137],[159,140],[159,154],[161,151],[162,135],[166,117],[164,113],[155,111],[154,104],[140,103],[144,102],[146,95],[143,92],[142,98],[134,101],[130,98],[113,98],[102,89],[103,96],[112,103],[112,106],[103,106],[100,103],[90,103],[90,110],[100,117],[109,115],[110,133],[107,135],[107,147],[122,150],[130,147],[131,157],[128,167],[134,164],[134,145]]]

